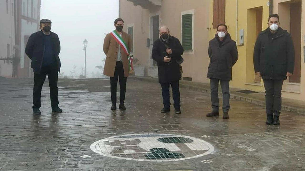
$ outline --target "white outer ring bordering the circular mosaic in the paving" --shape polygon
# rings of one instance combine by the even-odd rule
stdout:
[[[116,157],[116,156],[113,156],[113,155],[108,155],[108,154],[105,154],[105,153],[102,153],[100,152],[98,149],[96,149],[96,145],[99,144],[99,142],[101,141],[104,141],[104,140],[107,140],[107,139],[111,139],[111,138],[116,138],[116,137],[122,137],[122,136],[130,136],[130,135],[170,135],[170,136],[179,136],[179,137],[183,137],[183,138],[190,138],[192,140],[199,140],[199,141],[202,141],[206,144],[206,146],[209,147],[209,150],[205,153],[202,153],[202,154],[199,154],[199,155],[195,155],[195,156],[192,156],[192,157],[186,157],[186,158],[181,158],[181,159],[133,159],[133,158],[127,158],[127,157]],[[205,155],[208,155],[208,154],[211,154],[212,152],[214,152],[214,147],[213,145],[211,145],[210,143],[202,140],[202,139],[199,139],[199,138],[194,138],[194,137],[190,137],[190,136],[184,136],[184,135],[175,135],[175,134],[125,134],[125,135],[116,135],[116,136],[112,136],[112,137],[108,137],[108,138],[103,138],[99,141],[95,141],[94,143],[92,143],[90,145],[90,149],[99,154],[99,155],[103,155],[103,156],[106,156],[106,157],[111,157],[111,158],[115,158],[115,159],[124,159],[124,160],[132,160],[132,161],[143,161],[143,162],[174,162],[174,161],[181,161],[181,160],[188,160],[188,159],[195,159],[195,158],[198,158],[198,157],[202,157],[202,156],[205,156]]]

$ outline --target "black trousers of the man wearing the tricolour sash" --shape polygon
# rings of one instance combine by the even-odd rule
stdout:
[[[120,81],[120,103],[125,101],[127,77],[124,76],[123,62],[117,61],[114,77],[110,77],[110,93],[112,104],[117,103],[117,80]]]

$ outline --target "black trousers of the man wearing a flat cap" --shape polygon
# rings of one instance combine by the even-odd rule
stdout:
[[[45,77],[48,75],[49,79],[49,86],[50,86],[50,98],[51,98],[51,105],[53,107],[57,107],[58,102],[58,88],[57,88],[57,81],[58,81],[58,71],[56,64],[49,65],[46,67],[41,68],[41,72],[34,73],[34,89],[33,89],[33,109],[40,108],[41,103],[41,89],[42,85],[45,82]]]

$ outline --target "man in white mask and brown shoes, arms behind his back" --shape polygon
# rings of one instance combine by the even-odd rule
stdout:
[[[230,92],[229,82],[232,79],[232,66],[238,59],[236,43],[228,33],[228,27],[224,24],[217,26],[215,38],[209,44],[210,65],[207,78],[210,79],[212,112],[207,117],[219,116],[218,84],[220,82],[223,96],[223,119],[229,119]]]

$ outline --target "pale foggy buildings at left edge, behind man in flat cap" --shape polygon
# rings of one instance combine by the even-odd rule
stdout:
[[[0,1],[0,76],[33,77],[24,49],[39,30],[40,5],[41,0]]]

